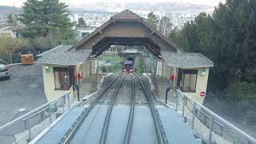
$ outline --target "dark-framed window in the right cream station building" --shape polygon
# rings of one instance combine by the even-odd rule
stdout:
[[[197,84],[198,70],[182,70],[182,91],[195,92]]]

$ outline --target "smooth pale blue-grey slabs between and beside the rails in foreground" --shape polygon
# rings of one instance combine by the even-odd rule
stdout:
[[[70,143],[98,143],[101,138],[102,127],[104,125],[108,107],[108,105],[94,106],[93,110],[90,111],[90,114],[88,114]],[[60,142],[67,130],[70,129],[84,109],[85,107],[74,107],[59,122],[57,122],[55,126],[48,130],[42,138],[39,138],[36,143],[56,144]],[[201,140],[194,138],[190,127],[182,122],[180,115],[173,109],[158,106],[157,110],[169,143],[202,143]],[[115,105],[113,107],[106,143],[122,143],[126,134],[129,113],[130,106]],[[136,105],[134,107],[134,122],[130,143],[158,143],[154,130],[154,121],[151,117],[149,106]]]

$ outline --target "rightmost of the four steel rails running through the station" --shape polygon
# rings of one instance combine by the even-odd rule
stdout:
[[[138,74],[134,73],[134,75],[138,78],[138,81],[141,83],[142,88],[146,94],[146,99],[148,100],[149,104],[150,104],[150,111],[151,111],[151,115],[154,121],[154,128],[155,128],[155,132],[157,134],[158,137],[158,144],[168,144],[168,141],[166,139],[166,134],[163,130],[162,123],[160,118],[158,117],[158,111],[155,109],[154,104],[150,98],[150,95],[148,94],[146,87],[144,86],[142,80],[138,77]]]

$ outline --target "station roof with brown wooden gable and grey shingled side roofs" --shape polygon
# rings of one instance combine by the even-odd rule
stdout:
[[[40,54],[38,62],[55,65],[77,65],[95,58],[111,45],[145,46],[167,66],[179,68],[212,67],[214,62],[199,53],[186,53],[149,26],[144,18],[130,10],[114,15],[93,33],[74,46],[58,46]]]

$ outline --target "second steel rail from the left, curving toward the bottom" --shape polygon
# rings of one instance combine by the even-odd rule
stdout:
[[[120,86],[122,85],[122,82],[123,82],[124,78],[126,78],[126,75],[122,78],[122,80],[119,83],[117,89],[114,91],[114,96],[113,96],[112,101],[110,103],[109,109],[107,110],[107,113],[106,113],[106,118],[105,118],[105,122],[104,122],[103,129],[102,129],[102,136],[101,136],[101,139],[100,139],[100,142],[99,142],[100,144],[105,144],[106,143],[107,131],[109,129],[110,118],[111,118],[111,113],[112,113],[113,106],[114,106],[114,101],[117,98],[118,90],[119,90]]]

